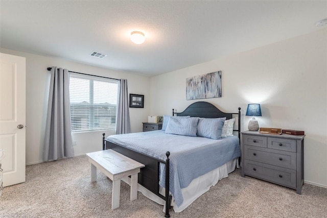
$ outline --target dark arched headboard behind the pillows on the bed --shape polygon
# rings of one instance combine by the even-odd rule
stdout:
[[[226,117],[226,119],[231,119],[233,115],[238,115],[238,129],[239,139],[241,140],[241,108],[239,108],[238,113],[225,113],[219,110],[215,105],[208,102],[195,102],[187,107],[183,112],[174,112],[173,116],[193,116],[193,117],[204,117],[204,118],[219,118]]]

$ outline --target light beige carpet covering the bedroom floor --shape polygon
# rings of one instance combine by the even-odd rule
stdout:
[[[163,206],[141,192],[130,201],[121,183],[120,207],[111,210],[111,180],[98,171],[90,182],[86,156],[26,166],[26,182],[5,187],[0,217],[164,217]],[[171,217],[327,217],[327,189],[305,184],[290,188],[241,177],[240,169]]]

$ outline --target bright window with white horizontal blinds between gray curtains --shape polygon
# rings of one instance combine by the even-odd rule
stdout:
[[[118,81],[71,73],[72,132],[114,130]]]

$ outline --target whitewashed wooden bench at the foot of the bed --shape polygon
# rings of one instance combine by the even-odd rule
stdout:
[[[137,174],[145,165],[111,149],[86,154],[91,163],[91,182],[97,181],[97,168],[112,181],[111,209],[119,207],[121,179],[131,176],[131,201],[137,199]]]

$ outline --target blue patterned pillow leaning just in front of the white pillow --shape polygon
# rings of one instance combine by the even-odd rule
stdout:
[[[221,118],[199,118],[198,133],[200,137],[221,139],[221,132],[226,117]]]

